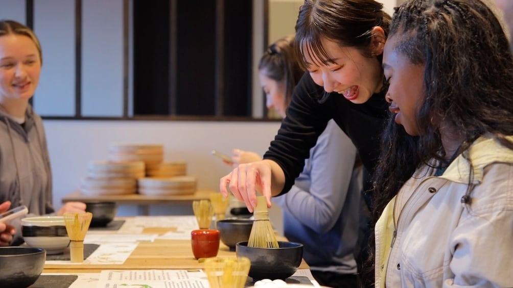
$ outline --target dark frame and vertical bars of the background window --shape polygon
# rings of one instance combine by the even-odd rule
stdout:
[[[137,0],[133,0],[134,2]],[[170,12],[170,19],[169,19],[169,41],[170,41],[170,48],[169,48],[169,71],[177,71],[176,67],[176,61],[172,61],[172,59],[176,59],[176,37],[177,37],[177,30],[176,30],[176,20],[177,20],[177,13],[176,13],[176,6],[177,3],[180,0],[169,0],[169,12]],[[217,14],[223,14],[223,10],[225,9],[225,5],[227,1],[230,0],[211,0],[215,1],[215,7],[216,7],[216,13]],[[247,1],[247,0],[246,0]],[[262,0],[249,0],[251,2],[251,5],[253,1],[262,1]],[[267,46],[267,34],[268,34],[268,0],[264,1],[264,47]],[[33,12],[34,12],[34,2],[33,0],[25,0],[26,2],[26,19],[27,19],[27,25],[31,28],[33,28]],[[136,115],[135,109],[133,108],[133,112],[131,113],[129,111],[129,85],[134,85],[134,83],[129,83],[129,62],[131,59],[129,59],[130,55],[130,43],[129,43],[129,30],[130,30],[130,11],[129,9],[132,9],[130,7],[130,0],[123,0],[123,115],[120,116],[106,116],[106,117],[87,117],[82,115],[82,107],[81,107],[81,100],[82,100],[82,93],[81,93],[81,71],[82,71],[82,0],[74,0],[75,2],[75,115],[74,116],[43,116],[44,119],[53,119],[53,120],[161,120],[161,121],[278,121],[277,119],[268,119],[265,115],[267,115],[267,108],[265,107],[265,97],[262,97],[262,101],[264,103],[264,117],[263,118],[254,118],[251,116],[252,109],[251,109],[251,103],[252,103],[252,67],[251,62],[249,61],[249,85],[247,88],[248,93],[248,107],[246,107],[246,113],[247,116],[225,116],[224,110],[226,109],[224,103],[225,99],[223,97],[225,85],[223,83],[223,79],[225,77],[225,59],[223,58],[223,50],[224,50],[224,21],[225,19],[223,17],[220,17],[219,20],[216,20],[216,28],[215,28],[215,34],[216,34],[216,43],[215,43],[215,53],[216,53],[216,64],[215,64],[215,70],[217,73],[215,73],[215,113],[214,115],[201,115],[201,116],[194,116],[194,115],[177,115],[176,113],[176,102],[177,102],[177,83],[176,83],[176,73],[169,73],[168,75],[168,81],[169,81],[169,88],[168,92],[171,95],[169,98],[169,112],[170,115]],[[251,6],[252,7],[252,6]],[[173,9],[174,8],[174,9]],[[252,11],[252,8],[251,8]],[[196,15],[197,16],[197,15]],[[251,31],[253,29],[251,28]],[[252,34],[252,33],[251,33]],[[249,48],[250,55],[253,53],[252,48]],[[173,75],[173,76],[171,76]],[[135,101],[135,97],[132,97],[132,101]],[[134,105],[132,105],[134,106]]]

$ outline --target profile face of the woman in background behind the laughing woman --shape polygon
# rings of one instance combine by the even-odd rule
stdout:
[[[274,109],[281,117],[285,118],[285,81],[276,81],[269,78],[266,71],[259,72],[260,84],[266,96],[266,106]]]

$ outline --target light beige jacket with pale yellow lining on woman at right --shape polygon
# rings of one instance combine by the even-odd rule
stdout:
[[[441,176],[416,172],[385,208],[375,231],[377,288],[513,287],[513,151],[482,137],[469,155],[470,191],[460,155]]]

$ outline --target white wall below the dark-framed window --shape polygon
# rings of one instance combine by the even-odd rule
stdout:
[[[64,195],[75,191],[86,176],[87,163],[107,160],[112,143],[164,144],[165,160],[186,161],[187,173],[198,177],[198,188],[219,191],[219,180],[231,171],[212,149],[230,153],[241,148],[264,153],[279,122],[206,121],[77,121],[44,120],[53,171],[53,205],[62,207]],[[250,132],[248,132],[250,131]],[[154,205],[150,215],[192,213],[191,207]],[[118,215],[136,215],[135,206],[121,206]],[[281,210],[270,211],[282,231]]]

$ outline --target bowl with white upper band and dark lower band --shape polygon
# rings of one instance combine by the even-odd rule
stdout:
[[[23,218],[22,236],[27,246],[43,248],[49,255],[63,253],[69,245],[63,216]]]

